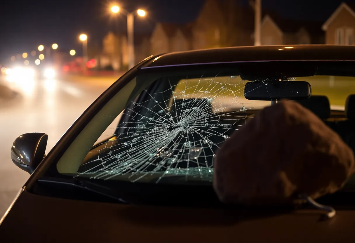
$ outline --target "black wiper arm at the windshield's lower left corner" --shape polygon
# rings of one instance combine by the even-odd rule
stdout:
[[[44,183],[55,183],[57,185],[69,185],[72,187],[76,187],[79,189],[87,190],[107,198],[114,199],[124,204],[130,204],[127,200],[122,198],[122,195],[115,190],[112,190],[109,187],[105,187],[100,185],[99,183],[88,182],[87,180],[82,180],[78,178],[70,178],[70,179],[63,179],[63,178],[41,178],[38,179],[38,182]]]

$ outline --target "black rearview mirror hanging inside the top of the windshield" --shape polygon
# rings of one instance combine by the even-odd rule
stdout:
[[[244,88],[244,97],[256,101],[307,99],[311,93],[311,85],[306,81],[252,81]]]

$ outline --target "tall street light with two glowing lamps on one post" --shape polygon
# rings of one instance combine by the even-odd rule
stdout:
[[[134,55],[134,36],[133,36],[133,29],[134,29],[134,14],[137,12],[137,15],[140,17],[146,16],[146,11],[142,9],[138,9],[137,11],[128,12],[127,10],[121,9],[119,6],[112,6],[111,12],[118,13],[122,12],[124,15],[127,16],[127,42],[128,42],[128,56],[129,56],[129,64],[128,68],[131,69],[135,65],[135,55]]]

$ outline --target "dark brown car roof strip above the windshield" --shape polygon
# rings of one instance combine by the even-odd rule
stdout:
[[[355,60],[350,45],[270,45],[226,47],[165,53],[148,59],[141,69],[255,61]]]

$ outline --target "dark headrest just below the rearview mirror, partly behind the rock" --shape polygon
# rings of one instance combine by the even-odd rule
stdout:
[[[312,95],[308,99],[302,99],[297,102],[311,110],[321,119],[327,119],[331,115],[331,107],[327,96]]]

